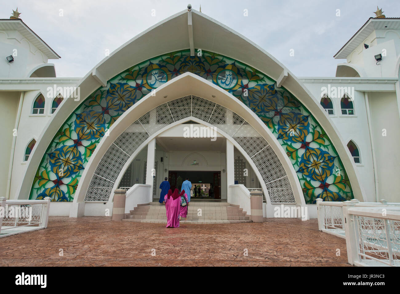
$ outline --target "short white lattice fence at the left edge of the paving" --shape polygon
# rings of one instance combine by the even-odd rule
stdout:
[[[0,198],[0,237],[47,228],[50,197],[44,200]]]

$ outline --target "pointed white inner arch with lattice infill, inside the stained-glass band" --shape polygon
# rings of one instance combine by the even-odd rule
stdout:
[[[190,91],[202,93],[215,102],[186,95]],[[172,97],[184,97],[168,99],[170,95],[167,93]],[[102,139],[82,174],[82,184],[78,187],[74,203],[112,201],[112,191],[118,188],[124,172],[140,150],[161,133],[185,121],[215,127],[218,133],[232,142],[232,148],[236,147],[256,172],[268,204],[272,194],[274,203],[304,205],[294,168],[264,123],[229,93],[190,73],[163,85],[155,96],[148,94],[110,128],[109,135]],[[232,165],[233,162],[232,157]],[[276,193],[278,190],[280,194]]]

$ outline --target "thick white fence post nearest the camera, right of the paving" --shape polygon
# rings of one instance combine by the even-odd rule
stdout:
[[[358,202],[360,201],[344,201],[342,203],[343,229],[346,234],[347,260],[350,264],[354,264],[354,261],[360,260],[360,257],[358,256],[358,249],[360,247],[357,233],[358,228],[356,227],[354,216],[349,215],[348,213],[348,210],[354,207]]]

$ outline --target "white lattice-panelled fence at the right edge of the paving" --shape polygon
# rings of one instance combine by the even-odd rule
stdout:
[[[346,239],[350,264],[400,266],[400,203],[317,199],[317,209],[318,229]]]

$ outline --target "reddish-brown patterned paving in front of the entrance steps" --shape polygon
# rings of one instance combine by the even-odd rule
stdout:
[[[110,217],[50,217],[44,230],[1,238],[0,265],[349,266],[346,241],[318,231],[316,219],[264,221],[166,228]]]

